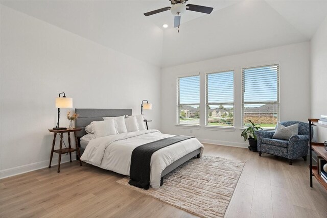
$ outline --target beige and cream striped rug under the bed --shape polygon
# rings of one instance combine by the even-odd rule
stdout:
[[[193,158],[164,177],[164,185],[148,190],[118,183],[201,217],[223,217],[244,162],[219,157]]]

